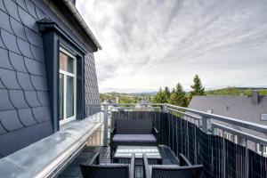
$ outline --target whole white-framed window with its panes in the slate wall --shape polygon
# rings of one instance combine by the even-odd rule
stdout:
[[[60,124],[76,119],[76,58],[60,50]]]

